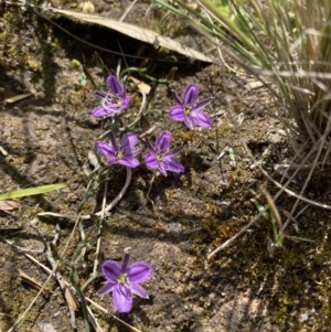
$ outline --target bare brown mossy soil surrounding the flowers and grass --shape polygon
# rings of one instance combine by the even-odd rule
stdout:
[[[129,1],[98,0],[94,4],[97,13],[117,19]],[[79,3],[56,1],[53,6],[78,10]],[[154,17],[146,14],[148,8],[147,1],[138,2],[126,21],[156,28]],[[119,44],[127,54],[141,50],[141,42],[108,29],[46,15],[72,34],[110,51],[120,52]],[[186,45],[204,51],[203,42],[190,29],[179,26],[172,26],[177,33],[169,26],[167,31]],[[154,49],[145,46],[143,56],[152,56]],[[38,213],[75,214],[86,193],[88,152],[94,150],[103,128],[102,121],[90,115],[98,103],[94,88],[88,81],[84,86],[79,83],[79,72],[72,66],[72,60],[85,63],[102,84],[102,71],[93,61],[95,51],[29,8],[3,3],[0,8],[0,192],[58,182],[67,185],[45,195],[20,199],[18,210],[0,211],[0,331],[13,325],[38,292],[19,277],[18,270],[41,283],[49,276],[8,242],[29,249],[31,256],[51,268],[44,255],[45,240],[54,237],[58,224],[57,244],[62,248],[75,221]],[[108,68],[116,71],[119,56],[97,52]],[[132,260],[148,261],[154,270],[153,278],[145,283],[150,299],[135,298],[132,311],[117,315],[140,331],[331,331],[327,211],[310,206],[287,228],[287,235],[314,243],[286,239],[284,247],[270,255],[267,245],[273,238],[271,224],[260,217],[212,261],[205,260],[207,254],[258,214],[252,199],[265,203],[261,185],[277,192],[254,167],[242,142],[248,144],[256,159],[268,149],[264,168],[277,180],[275,165],[286,162],[291,153],[279,124],[266,116],[266,111],[275,109],[267,90],[247,89],[248,78],[228,72],[224,65],[192,62],[171,52],[164,52],[163,60],[156,63],[150,76],[163,78],[174,65],[178,71],[170,87],[158,86],[151,108],[164,114],[173,103],[170,89],[181,93],[188,83],[194,82],[202,96],[215,96],[209,109],[214,125],[209,130],[191,132],[167,116],[150,116],[150,121],[173,132],[175,146],[185,147],[180,156],[185,172],[157,178],[150,192],[151,204],[147,197],[151,172],[146,167],[134,170],[129,190],[107,216],[102,257],[120,260],[124,248],[131,247]],[[141,65],[138,60],[126,61],[130,66]],[[124,62],[121,65],[125,67]],[[8,100],[25,93],[32,95],[15,103]],[[128,94],[132,98],[132,116],[139,109],[141,96],[134,84],[128,86]],[[225,147],[234,149],[236,167],[232,167],[227,153],[217,161]],[[111,169],[107,201],[114,200],[125,179],[124,169]],[[292,185],[299,190],[300,178]],[[330,174],[325,172],[322,179],[312,180],[307,195],[328,201],[329,192]],[[103,189],[87,201],[83,213],[98,211],[102,196]],[[293,200],[286,195],[277,201],[284,218],[284,211],[290,211],[292,204]],[[83,225],[87,232],[93,222]],[[78,245],[76,233],[67,259]],[[90,247],[84,257],[87,269],[79,275],[82,283],[92,272],[94,253]],[[68,269],[61,265],[60,270],[68,280]],[[96,296],[103,281],[96,279],[85,291],[109,310],[105,314],[93,309],[100,325],[104,331],[130,331],[111,318],[116,314],[111,298]],[[15,331],[73,330],[56,281],[51,280],[47,288],[51,292],[38,299]],[[79,312],[76,322],[77,331],[84,331]]]

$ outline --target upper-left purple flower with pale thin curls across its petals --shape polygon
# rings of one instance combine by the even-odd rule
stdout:
[[[106,84],[109,92],[95,92],[95,94],[103,98],[103,104],[97,106],[92,115],[94,117],[113,117],[128,107],[130,97],[126,94],[126,88],[122,83],[115,75],[110,75]]]

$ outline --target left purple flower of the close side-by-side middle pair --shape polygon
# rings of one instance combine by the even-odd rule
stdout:
[[[108,158],[108,164],[119,163],[134,169],[139,165],[139,161],[135,157],[143,150],[135,150],[137,142],[137,135],[134,132],[127,132],[122,136],[118,146],[114,132],[110,132],[110,143],[97,141],[96,147],[100,153]]]

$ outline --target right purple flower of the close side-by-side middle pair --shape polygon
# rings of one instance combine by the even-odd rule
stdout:
[[[145,157],[145,163],[152,170],[159,170],[167,176],[167,171],[182,173],[184,167],[173,158],[175,153],[182,150],[182,147],[169,149],[171,143],[171,133],[167,130],[162,131],[157,138],[156,147],[147,139],[146,144],[150,150]]]

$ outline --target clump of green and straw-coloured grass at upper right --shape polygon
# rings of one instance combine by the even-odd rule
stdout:
[[[299,161],[330,159],[330,1],[200,0],[202,11],[180,0],[179,9],[154,1],[225,44],[222,51],[266,84],[284,110],[271,116]]]

